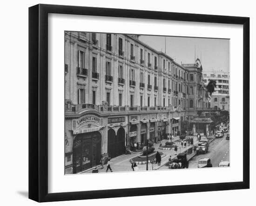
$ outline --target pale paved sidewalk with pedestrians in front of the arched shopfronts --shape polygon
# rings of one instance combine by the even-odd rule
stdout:
[[[189,136],[189,137],[190,138],[193,137],[194,145],[196,145],[197,142],[198,142],[197,137],[196,136]],[[178,140],[178,139],[179,139],[179,136],[176,136],[172,141],[175,141],[175,140]],[[153,170],[158,170],[160,168],[161,169],[168,169],[168,167],[165,168],[164,165],[168,162],[168,159],[169,159],[170,155],[172,156],[172,159],[174,159],[176,157],[174,149],[172,149],[172,150],[160,150],[158,148],[160,146],[160,144],[165,145],[165,142],[167,142],[167,141],[168,140],[162,140],[160,143],[155,143],[154,144],[155,152],[156,151],[162,152],[162,153],[165,154],[165,157],[163,157],[162,160],[161,160],[161,166],[157,166],[157,164],[153,164],[153,167],[152,167],[152,164],[148,163],[148,170],[152,170],[152,168],[153,168]],[[192,147],[190,145],[190,146],[186,146],[186,147],[183,146],[183,148],[182,148],[181,145],[179,145],[179,144],[177,144],[177,146],[178,146],[177,153],[185,152],[187,149]],[[135,158],[140,153],[141,152],[134,152],[132,154],[123,154],[119,157],[111,159],[111,165],[110,166],[112,168],[112,171],[113,172],[129,172],[129,171],[132,172],[131,163],[130,163],[129,160],[132,159],[132,158]],[[188,157],[190,157],[190,156],[188,156]],[[192,156],[190,158],[192,158]],[[138,165],[138,167],[139,167],[138,170],[139,171],[145,171],[146,170],[146,165],[147,164]],[[107,169],[107,165],[104,165],[103,169],[101,169],[101,166],[98,166],[99,173],[105,173],[106,169]],[[110,171],[108,170],[108,172],[110,172]],[[90,169],[88,171],[84,171],[82,173],[92,173],[92,169]]]

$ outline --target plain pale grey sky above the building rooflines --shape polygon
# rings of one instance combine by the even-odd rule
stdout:
[[[141,35],[139,40],[165,52],[164,36]],[[195,58],[199,58],[203,71],[229,72],[229,40],[166,37],[166,54],[179,64],[195,63]]]

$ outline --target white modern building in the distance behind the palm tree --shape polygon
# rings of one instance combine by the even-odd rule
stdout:
[[[211,107],[229,111],[229,72],[204,71],[203,79],[205,86],[209,80],[216,81],[215,92],[212,94],[210,101]]]

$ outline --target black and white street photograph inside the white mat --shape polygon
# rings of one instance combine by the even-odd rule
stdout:
[[[64,35],[66,175],[230,166],[229,39]]]

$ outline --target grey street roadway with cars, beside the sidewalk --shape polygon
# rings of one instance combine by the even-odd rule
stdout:
[[[198,160],[210,158],[213,167],[219,166],[221,161],[229,161],[229,140],[226,140],[227,133],[222,138],[216,138],[209,144],[209,151],[206,154],[198,154],[189,161],[189,168],[197,168]]]

